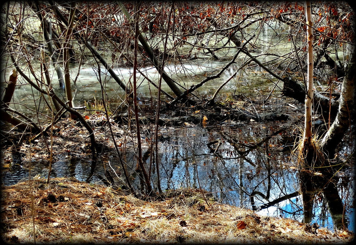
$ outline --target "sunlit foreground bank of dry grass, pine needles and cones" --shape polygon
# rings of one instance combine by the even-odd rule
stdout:
[[[143,201],[74,179],[56,178],[49,184],[35,179],[32,187],[37,244],[319,244],[354,238],[346,231],[313,230],[294,220],[262,217],[212,198],[204,206],[198,190],[167,191],[160,200]],[[28,182],[2,190],[2,239],[33,243]]]

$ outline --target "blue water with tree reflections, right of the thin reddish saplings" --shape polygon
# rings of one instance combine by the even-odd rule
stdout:
[[[340,190],[332,183],[317,187],[314,190],[321,191],[309,191],[312,202],[303,204],[300,191],[304,189],[290,152],[293,142],[286,141],[290,135],[285,128],[242,127],[191,126],[162,132],[170,135],[161,142],[159,152],[162,188],[198,188],[197,164],[202,188],[220,202],[323,227],[347,227],[347,220],[342,219],[346,196],[341,200],[339,195],[345,188]],[[309,212],[306,220],[303,207]]]

